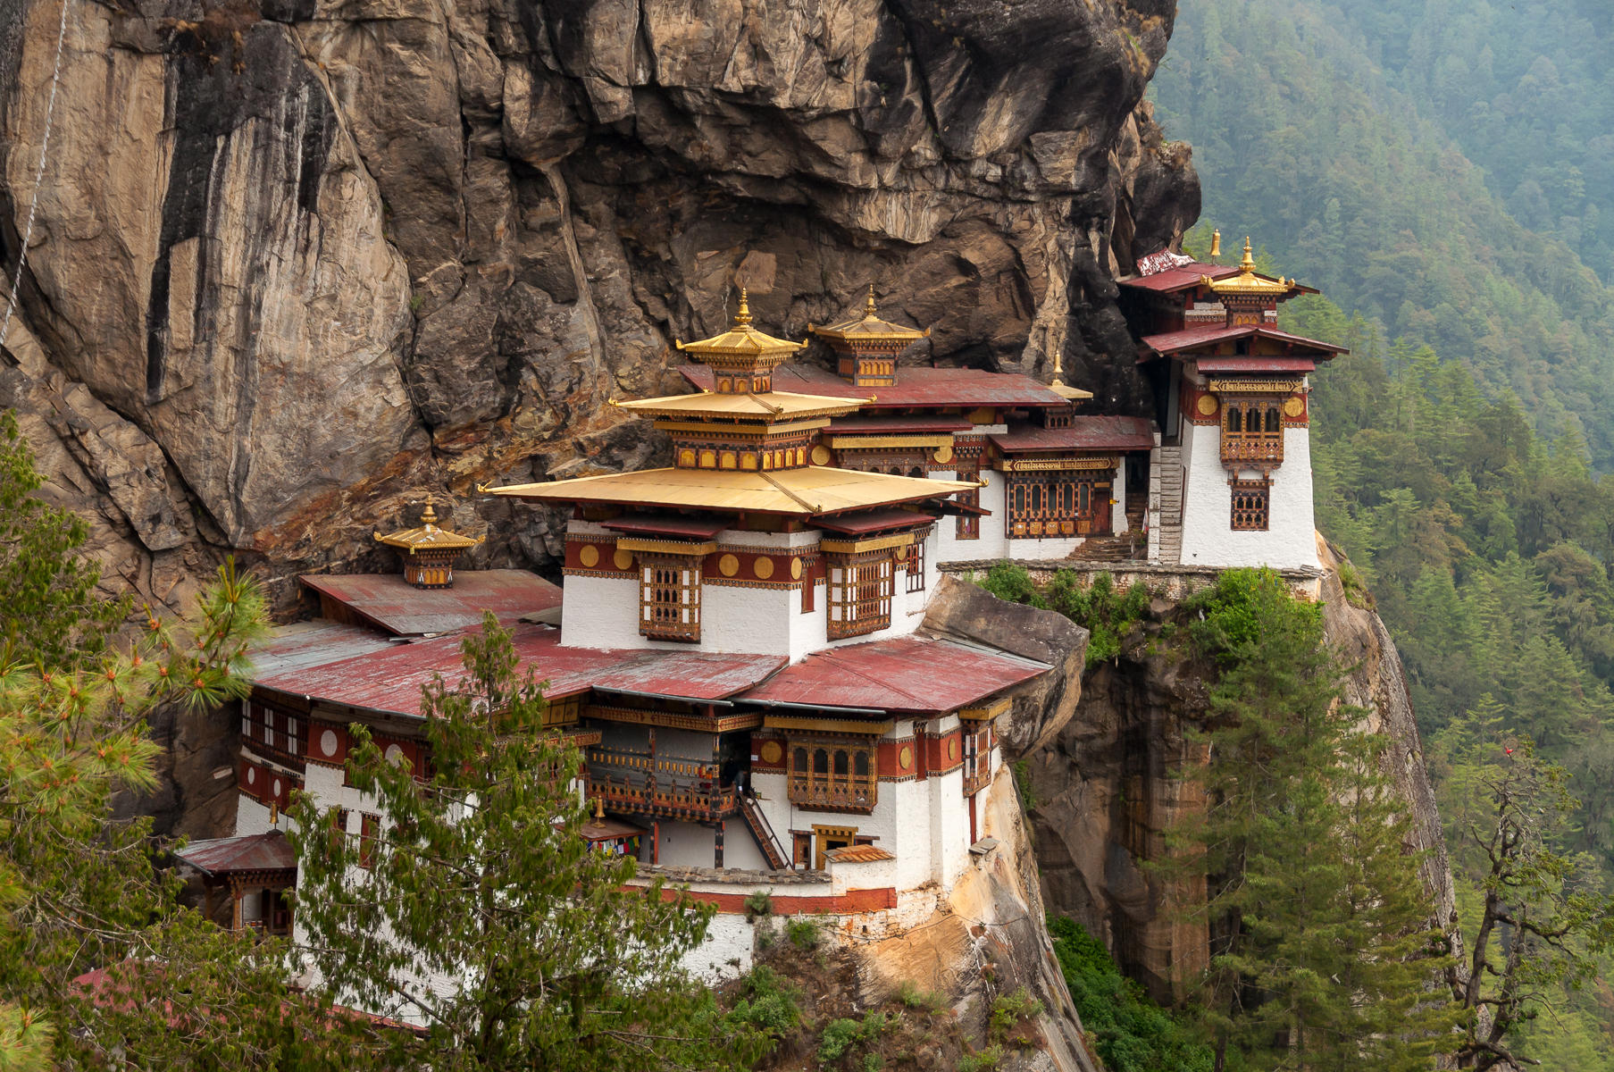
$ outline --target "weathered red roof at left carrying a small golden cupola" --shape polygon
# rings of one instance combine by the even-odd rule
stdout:
[[[560,588],[526,570],[460,570],[454,588],[415,588],[399,573],[315,573],[302,583],[400,636],[463,630],[484,610],[508,625],[560,605]]]

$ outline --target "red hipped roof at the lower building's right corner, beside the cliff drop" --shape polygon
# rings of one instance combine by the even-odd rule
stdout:
[[[952,641],[897,636],[807,655],[741,699],[941,714],[1047,670],[1041,662]]]

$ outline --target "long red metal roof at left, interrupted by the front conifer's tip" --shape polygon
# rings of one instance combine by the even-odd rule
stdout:
[[[670,649],[562,647],[560,631],[516,623],[515,652],[552,699],[589,688],[654,693],[681,699],[723,699],[741,693],[784,665],[783,655],[728,655]],[[344,707],[420,717],[420,689],[442,675],[463,675],[465,633],[395,643],[321,665],[281,667],[274,643],[258,657],[255,685]],[[265,668],[268,667],[268,668]]]

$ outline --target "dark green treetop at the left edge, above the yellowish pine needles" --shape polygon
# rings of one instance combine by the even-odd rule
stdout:
[[[100,568],[77,554],[89,525],[40,500],[44,483],[16,417],[0,412],[0,664],[87,665],[129,617],[129,599],[97,594]]]

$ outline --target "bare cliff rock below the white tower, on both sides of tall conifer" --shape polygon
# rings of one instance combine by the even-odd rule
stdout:
[[[1414,848],[1428,852],[1430,914],[1451,925],[1456,893],[1401,657],[1378,615],[1349,604],[1322,539],[1319,557],[1327,643],[1351,667],[1344,701],[1367,712],[1362,731],[1385,739],[1386,772],[1414,820]],[[1156,601],[1143,634],[1085,675],[1075,717],[1052,744],[1027,757],[1049,911],[1080,920],[1162,1001],[1181,996],[1207,956],[1204,930],[1173,911],[1202,902],[1202,880],[1170,885],[1148,869],[1167,856],[1165,831],[1204,802],[1191,775],[1206,756],[1188,738],[1209,710],[1209,688],[1170,644],[1152,641],[1175,612],[1173,602]],[[1453,930],[1451,938],[1461,954],[1461,935]]]

